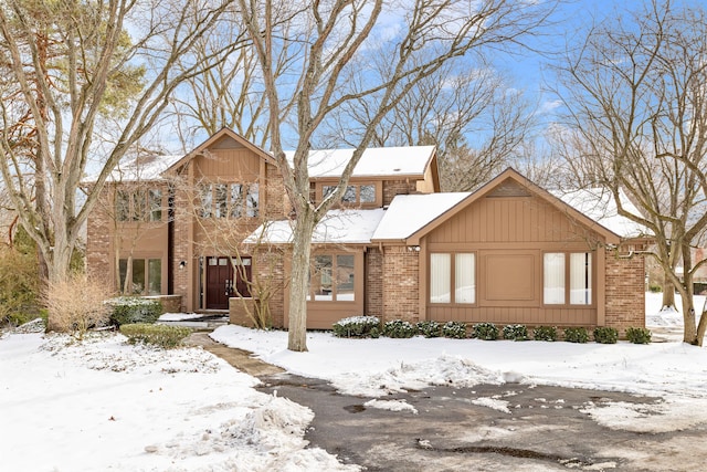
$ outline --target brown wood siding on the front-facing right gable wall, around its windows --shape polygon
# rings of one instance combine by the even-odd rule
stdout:
[[[500,188],[472,202],[421,240],[422,252],[475,253],[476,302],[429,302],[423,318],[439,322],[595,326],[603,323],[604,250],[601,237],[547,200],[520,189]],[[525,195],[524,195],[525,193]],[[592,253],[592,304],[544,305],[542,254]],[[426,261],[425,265],[429,262]]]

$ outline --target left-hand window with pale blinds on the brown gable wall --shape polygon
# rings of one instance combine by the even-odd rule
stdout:
[[[453,291],[452,287],[454,287]],[[474,253],[430,254],[430,302],[476,303],[476,256]]]

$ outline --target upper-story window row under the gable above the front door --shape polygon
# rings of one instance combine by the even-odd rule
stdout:
[[[257,183],[203,183],[201,218],[255,218],[260,214]]]

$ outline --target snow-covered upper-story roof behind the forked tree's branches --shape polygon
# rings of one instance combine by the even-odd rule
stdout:
[[[286,151],[289,162],[294,151]],[[309,177],[339,177],[351,159],[354,149],[319,149],[309,151]],[[421,176],[434,156],[434,146],[368,148],[354,169],[352,177]]]

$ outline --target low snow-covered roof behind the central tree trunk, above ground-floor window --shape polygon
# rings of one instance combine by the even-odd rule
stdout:
[[[314,230],[313,243],[368,244],[386,210],[329,210]],[[295,221],[270,221],[258,227],[244,242],[287,244],[292,242]]]

